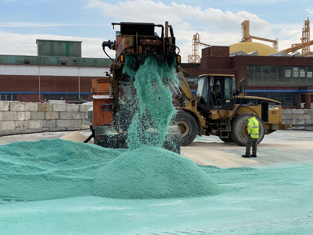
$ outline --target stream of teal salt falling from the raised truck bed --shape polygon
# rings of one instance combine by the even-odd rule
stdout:
[[[169,88],[177,83],[175,63],[160,65],[149,56],[136,69],[134,60],[126,57],[123,72],[134,78],[136,90],[131,97],[136,106],[132,106],[134,116],[128,129],[128,147],[135,149],[141,144],[162,147],[170,120],[176,113]],[[154,131],[147,131],[149,128]]]

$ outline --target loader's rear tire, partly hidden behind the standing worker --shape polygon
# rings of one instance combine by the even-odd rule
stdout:
[[[259,122],[259,138],[257,144],[259,144],[265,134],[265,126],[261,118],[255,116],[255,118]],[[248,126],[248,119],[249,113],[239,114],[232,122],[232,131],[230,132],[231,139],[234,143],[240,146],[246,146],[248,133],[247,133],[247,126]]]

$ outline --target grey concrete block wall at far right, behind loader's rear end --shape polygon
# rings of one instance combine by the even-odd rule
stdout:
[[[282,109],[283,122],[293,125],[313,124],[312,109]]]

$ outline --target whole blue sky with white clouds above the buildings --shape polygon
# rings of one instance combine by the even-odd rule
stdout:
[[[112,22],[168,21],[187,62],[196,32],[205,43],[230,45],[239,42],[241,22],[249,20],[251,35],[279,38],[283,50],[300,43],[307,17],[313,22],[311,0],[0,0],[0,55],[37,55],[36,39],[54,39],[83,41],[82,57],[106,58],[101,44],[115,40],[119,30]],[[114,57],[115,51],[106,51]]]

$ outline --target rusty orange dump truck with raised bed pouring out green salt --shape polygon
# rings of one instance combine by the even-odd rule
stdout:
[[[148,56],[153,56],[159,64],[169,65],[178,65],[181,57],[175,45],[172,26],[167,22],[165,27],[152,23],[112,25],[113,29],[115,25],[119,25],[120,31],[116,32],[115,41],[104,41],[102,47],[104,52],[106,47],[115,50],[115,60],[111,59],[110,73],[92,80],[94,143],[107,148],[126,148],[127,129],[132,120],[130,112],[126,112],[130,106],[127,92],[131,86],[130,76],[123,73],[126,60],[134,60],[138,69]],[[161,29],[160,36],[155,33],[156,28]],[[107,55],[106,52],[105,54]],[[172,134],[177,135],[175,138],[180,140],[179,131]],[[178,145],[180,146],[180,142]],[[166,143],[163,147],[167,148]]]

